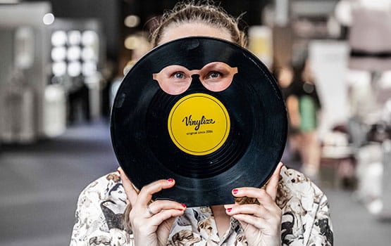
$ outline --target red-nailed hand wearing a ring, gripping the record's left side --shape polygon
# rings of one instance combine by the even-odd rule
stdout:
[[[185,205],[169,200],[151,202],[152,195],[175,185],[173,179],[159,180],[136,190],[122,169],[120,178],[132,209],[129,214],[130,226],[135,237],[135,245],[166,245],[170,228],[175,217],[185,212]]]

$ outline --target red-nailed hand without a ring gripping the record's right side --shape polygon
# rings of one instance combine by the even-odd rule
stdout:
[[[227,214],[242,224],[249,245],[281,245],[282,212],[275,203],[281,167],[283,164],[280,162],[264,189],[244,187],[232,190],[235,197],[256,198],[259,205],[225,205]]]

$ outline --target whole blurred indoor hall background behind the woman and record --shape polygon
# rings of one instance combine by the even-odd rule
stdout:
[[[115,171],[124,73],[175,0],[0,0],[0,245],[68,245],[77,196]],[[328,195],[335,245],[391,241],[391,0],[216,1],[290,118],[283,161]]]

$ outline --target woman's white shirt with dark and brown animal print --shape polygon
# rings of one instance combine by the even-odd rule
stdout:
[[[306,176],[283,167],[276,202],[283,211],[282,245],[333,245],[328,200]],[[132,232],[123,226],[126,205],[118,174],[90,183],[77,201],[70,246],[134,245]],[[167,245],[240,246],[247,240],[239,221],[231,218],[230,228],[219,237],[211,208],[191,207],[176,219]]]

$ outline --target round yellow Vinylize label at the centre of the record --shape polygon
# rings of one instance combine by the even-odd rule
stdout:
[[[168,132],[175,145],[190,155],[215,152],[230,133],[230,117],[217,98],[193,93],[180,99],[168,116]]]

